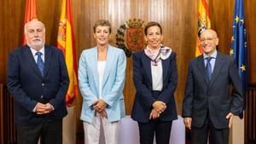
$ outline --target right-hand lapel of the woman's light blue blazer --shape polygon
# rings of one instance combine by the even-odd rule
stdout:
[[[114,63],[114,61],[113,61],[114,57],[115,56],[113,53],[113,48],[110,45],[108,45],[107,62],[106,62],[104,75],[103,75],[103,79],[102,79],[102,88],[104,87],[104,85],[108,79],[109,73],[111,72],[111,69],[112,69],[112,66]]]

